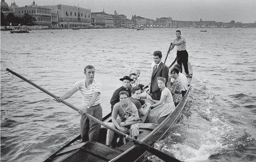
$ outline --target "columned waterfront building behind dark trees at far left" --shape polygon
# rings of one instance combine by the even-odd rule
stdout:
[[[14,8],[14,14],[18,17],[24,17],[25,14],[28,14],[35,18],[36,21],[33,21],[33,23],[36,26],[42,26],[42,27],[51,27],[52,26],[52,20],[51,20],[51,9],[37,6],[35,1],[30,6],[24,6],[24,7],[17,7]]]

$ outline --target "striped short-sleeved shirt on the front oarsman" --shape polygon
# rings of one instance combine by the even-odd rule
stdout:
[[[93,80],[93,83],[91,83],[91,85],[89,85],[88,88],[85,87],[85,79],[76,82],[75,86],[78,87],[78,89],[81,92],[84,106],[86,106],[89,103],[91,97],[93,97],[94,92],[102,93],[102,84],[95,82],[95,80]],[[95,102],[92,106],[98,104],[100,104],[100,95],[98,95],[98,97],[95,99]]]

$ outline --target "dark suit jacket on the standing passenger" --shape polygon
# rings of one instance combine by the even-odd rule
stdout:
[[[156,65],[154,65],[153,69]],[[166,79],[166,83],[168,81],[168,73],[169,69],[164,63],[160,63],[156,70],[153,70],[151,75],[151,86],[150,86],[150,93],[156,92],[159,87],[157,85],[157,77],[163,77]]]

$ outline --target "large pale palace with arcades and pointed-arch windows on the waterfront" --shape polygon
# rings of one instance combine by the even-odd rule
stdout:
[[[62,28],[86,28],[91,26],[91,11],[76,6],[67,6],[58,4],[55,6],[44,6],[50,8],[54,13],[52,16],[57,17],[59,24],[56,21],[52,21],[52,24]]]

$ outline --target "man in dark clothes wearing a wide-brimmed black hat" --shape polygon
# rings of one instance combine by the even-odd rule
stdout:
[[[110,99],[111,112],[113,110],[114,105],[120,101],[119,93],[122,90],[127,91],[129,93],[128,97],[131,97],[131,81],[133,81],[133,79],[131,79],[129,76],[124,76],[123,78],[120,78],[119,80],[123,81],[123,85],[122,85],[122,87],[115,90],[115,92],[112,95],[112,98]]]

